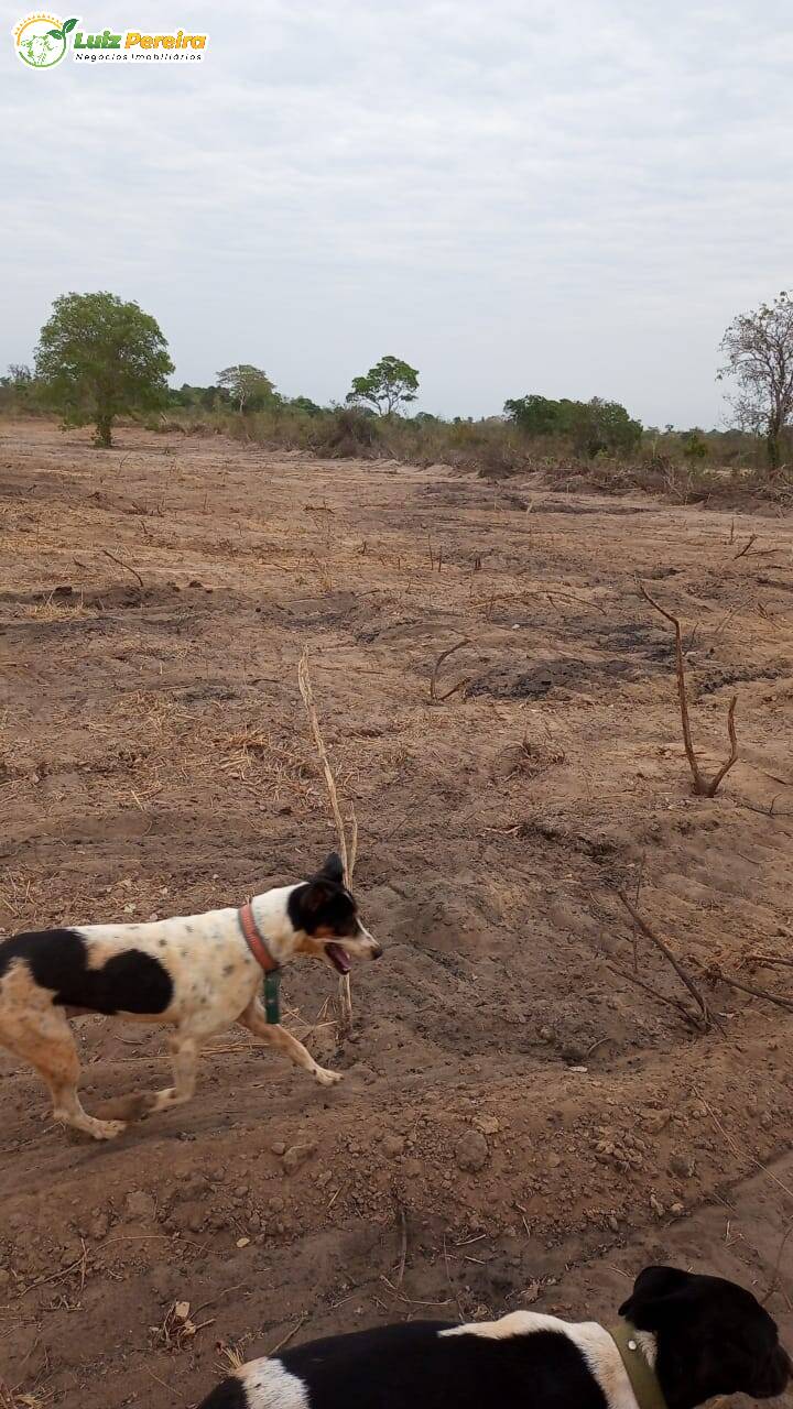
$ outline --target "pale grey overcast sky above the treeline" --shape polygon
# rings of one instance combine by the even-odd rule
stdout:
[[[56,294],[110,289],[176,383],[254,362],[341,400],[391,352],[447,416],[540,392],[713,426],[724,327],[793,283],[790,0],[54,13],[210,39],[34,72],[6,31],[0,368]]]

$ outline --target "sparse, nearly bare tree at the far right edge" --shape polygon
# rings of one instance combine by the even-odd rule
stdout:
[[[741,430],[763,435],[769,469],[779,469],[782,437],[793,420],[793,299],[782,290],[773,303],[732,320],[720,342],[717,378],[737,383],[728,402]]]

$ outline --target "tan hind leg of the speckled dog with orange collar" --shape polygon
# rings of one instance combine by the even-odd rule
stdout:
[[[55,1120],[95,1140],[113,1140],[124,1129],[123,1120],[95,1120],[83,1110],[78,1096],[80,1062],[62,1009],[6,1012],[0,1022],[0,1041],[44,1078],[52,1096]]]

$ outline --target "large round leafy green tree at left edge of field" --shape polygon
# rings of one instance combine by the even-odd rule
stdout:
[[[35,371],[66,426],[96,426],[95,444],[113,444],[113,421],[167,400],[174,371],[155,318],[114,293],[55,299],[35,349]]]

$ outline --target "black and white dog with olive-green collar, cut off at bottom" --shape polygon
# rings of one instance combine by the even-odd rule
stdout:
[[[648,1267],[619,1316],[614,1334],[512,1312],[330,1336],[251,1360],[200,1409],[694,1409],[790,1379],[776,1323],[735,1282]]]

